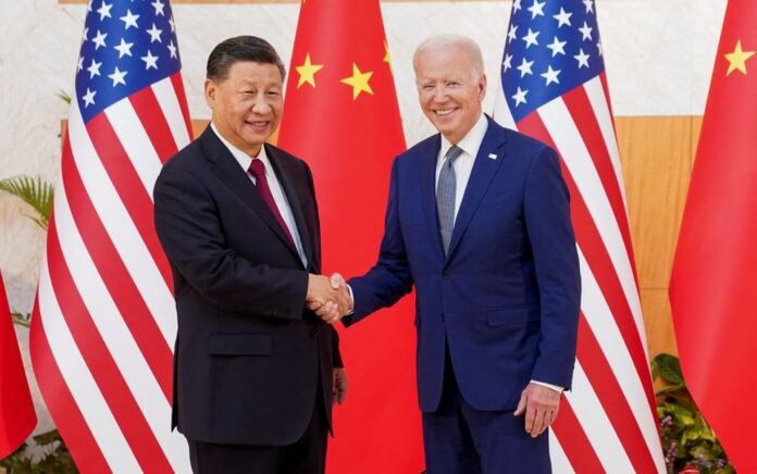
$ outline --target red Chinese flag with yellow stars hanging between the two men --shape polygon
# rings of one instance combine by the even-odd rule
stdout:
[[[405,150],[378,0],[305,0],[289,70],[278,145],[312,169],[324,274],[363,274]],[[412,311],[406,298],[340,328],[349,394],[334,410],[327,472],[422,471]]]

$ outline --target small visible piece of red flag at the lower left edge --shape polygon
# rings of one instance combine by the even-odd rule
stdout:
[[[32,433],[37,416],[21,361],[5,287],[0,276],[0,459],[13,452]]]

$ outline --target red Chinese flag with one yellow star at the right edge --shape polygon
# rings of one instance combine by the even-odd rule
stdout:
[[[755,25],[728,2],[670,282],[686,384],[739,472],[757,472]]]

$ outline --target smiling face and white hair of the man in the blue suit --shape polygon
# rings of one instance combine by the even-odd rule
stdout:
[[[462,43],[432,43],[415,52],[413,66],[423,113],[457,145],[481,117],[486,76]]]

